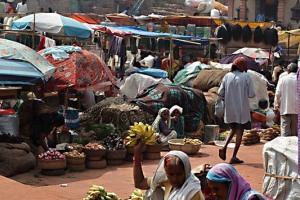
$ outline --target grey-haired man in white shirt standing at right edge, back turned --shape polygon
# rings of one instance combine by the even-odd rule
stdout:
[[[288,75],[279,79],[274,111],[280,113],[281,136],[298,135],[298,96],[297,96],[297,70],[298,66],[291,63],[287,67]]]

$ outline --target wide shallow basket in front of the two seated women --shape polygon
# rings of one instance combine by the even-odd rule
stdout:
[[[201,148],[202,142],[198,139],[171,139],[168,141],[171,150],[183,151],[184,153],[196,154]]]

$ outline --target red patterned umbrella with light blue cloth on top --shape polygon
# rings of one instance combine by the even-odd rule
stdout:
[[[39,53],[56,67],[48,82],[49,86],[80,89],[116,83],[105,62],[96,54],[80,47],[56,46]]]

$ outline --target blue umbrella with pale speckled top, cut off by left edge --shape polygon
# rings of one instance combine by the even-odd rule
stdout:
[[[33,49],[11,40],[0,39],[0,83],[32,84],[47,81],[55,67]]]

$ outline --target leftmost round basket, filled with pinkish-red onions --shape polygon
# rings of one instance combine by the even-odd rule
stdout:
[[[38,156],[38,167],[43,175],[59,176],[65,173],[66,158],[56,150],[48,150]]]

